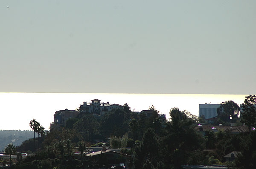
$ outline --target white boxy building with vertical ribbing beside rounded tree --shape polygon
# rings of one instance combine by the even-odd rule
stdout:
[[[204,115],[205,119],[216,117],[217,109],[220,107],[220,104],[199,104],[199,117]]]

